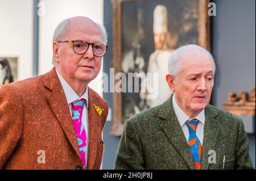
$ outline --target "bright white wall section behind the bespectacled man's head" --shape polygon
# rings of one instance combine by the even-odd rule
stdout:
[[[62,20],[73,16],[86,16],[94,22],[104,22],[103,0],[41,0],[39,4],[39,74],[51,70],[52,65],[52,35]],[[103,66],[103,61],[102,61]],[[101,69],[102,71],[102,69]],[[100,74],[99,74],[100,75]],[[89,86],[101,96],[102,78],[98,76]]]

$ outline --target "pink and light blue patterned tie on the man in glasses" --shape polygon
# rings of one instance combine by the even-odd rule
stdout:
[[[82,161],[82,168],[85,169],[86,166],[86,132],[84,129],[84,124],[82,124],[82,110],[84,108],[85,99],[76,100],[71,103],[72,106],[72,119],[75,127],[77,142],[79,145],[80,157]]]

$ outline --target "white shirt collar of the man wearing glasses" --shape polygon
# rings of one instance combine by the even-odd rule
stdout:
[[[56,69],[55,69],[56,70]],[[60,83],[61,86],[63,87],[66,99],[68,104],[74,102],[77,99],[85,99],[86,101],[86,107],[88,108],[88,86],[86,86],[85,92],[84,94],[82,94],[81,97],[79,97],[76,92],[72,89],[72,87],[68,84],[67,81],[65,81],[65,79],[61,76],[61,74],[59,73],[59,71],[56,70],[56,73],[60,79]]]

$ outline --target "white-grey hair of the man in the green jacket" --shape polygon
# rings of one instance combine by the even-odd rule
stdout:
[[[209,56],[210,60],[212,60],[213,69],[214,69],[214,73],[215,73],[216,65],[215,65],[214,59],[212,57],[212,54],[210,54],[210,52],[208,52],[207,49],[204,49],[203,47],[200,47],[199,45],[189,44],[189,45],[181,46],[180,48],[176,49],[174,52],[171,53],[171,56],[168,60],[168,74],[171,74],[174,77],[177,76],[177,74],[179,73],[179,71],[181,69],[181,64],[180,64],[181,57],[188,54],[188,52],[190,52],[191,50],[197,54],[200,54],[200,53],[207,54]]]

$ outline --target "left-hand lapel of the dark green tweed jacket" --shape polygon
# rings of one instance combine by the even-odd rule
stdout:
[[[187,163],[189,169],[195,169],[191,151],[172,107],[172,96],[171,99],[162,104],[159,112],[159,117],[164,119],[162,129],[168,140],[170,140],[185,163]]]

